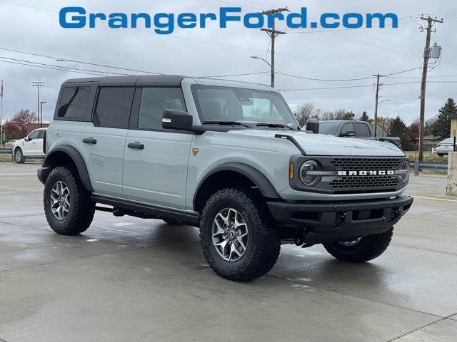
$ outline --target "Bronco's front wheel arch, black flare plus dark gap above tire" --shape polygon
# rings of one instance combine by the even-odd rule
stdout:
[[[268,178],[256,168],[241,162],[228,162],[208,172],[196,187],[193,207],[196,212],[203,209],[204,203],[214,190],[229,185],[251,185],[257,187],[266,198],[279,199],[278,192]]]

